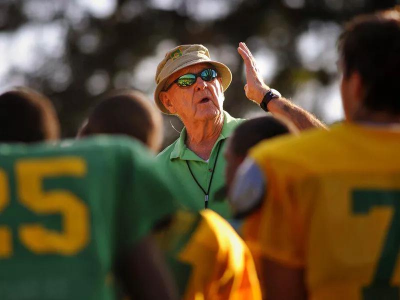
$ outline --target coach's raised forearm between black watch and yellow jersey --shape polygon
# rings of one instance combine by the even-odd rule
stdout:
[[[318,120],[312,113],[283,97],[271,99],[267,104],[267,108],[272,114],[281,115],[290,120],[298,130],[309,128],[327,129],[325,124]]]

